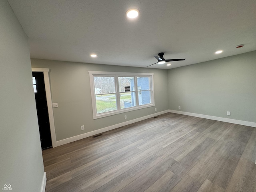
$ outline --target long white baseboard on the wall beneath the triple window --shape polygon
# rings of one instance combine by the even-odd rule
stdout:
[[[130,120],[130,121],[122,122],[122,123],[115,124],[115,125],[112,125],[112,126],[108,126],[108,127],[102,128],[102,129],[98,129],[98,130],[95,130],[95,131],[88,132],[88,133],[80,134],[80,135],[77,135],[77,136],[74,136],[74,137],[66,138],[66,139],[57,141],[56,144],[57,144],[57,146],[64,145],[64,144],[74,142],[74,141],[77,141],[77,140],[80,140],[80,139],[83,139],[83,138],[86,138],[86,137],[90,137],[90,136],[93,136],[93,135],[96,135],[96,134],[100,134],[100,133],[103,133],[103,132],[106,132],[106,131],[109,131],[109,130],[112,130],[112,129],[116,129],[116,128],[126,126],[126,125],[129,125],[129,124],[132,124],[132,123],[136,123],[136,122],[148,119],[148,118],[152,118],[154,116],[158,116],[158,115],[161,115],[161,114],[164,114],[164,113],[168,113],[168,110],[161,111],[161,112],[158,112],[158,113],[154,113],[154,114],[151,114],[151,115],[147,115],[147,116],[144,116],[144,117],[140,117],[140,118],[137,118],[137,119],[133,119],[133,120]]]

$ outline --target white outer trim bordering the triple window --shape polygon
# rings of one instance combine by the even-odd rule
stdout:
[[[91,98],[92,98],[92,112],[93,112],[93,119],[98,119],[106,116],[111,116],[115,114],[120,114],[124,112],[129,112],[129,111],[134,111],[138,109],[143,109],[143,108],[148,108],[155,106],[154,102],[154,74],[153,73],[130,73],[130,72],[105,72],[105,71],[88,71],[89,76],[90,76],[90,88],[91,88]],[[150,76],[151,77],[151,90],[152,90],[152,95],[151,95],[151,101],[152,103],[150,104],[145,104],[141,106],[136,106],[132,108],[124,108],[121,110],[114,110],[114,111],[109,111],[109,112],[104,112],[97,114],[96,110],[96,99],[95,99],[95,90],[94,90],[94,75],[102,75],[102,76],[107,76],[107,75],[113,75],[113,76]],[[117,83],[115,83],[116,86],[116,91],[117,91]],[[137,87],[137,81],[135,81],[135,87]],[[117,92],[117,96],[119,95],[119,92]],[[136,94],[136,103],[138,103],[138,96]]]

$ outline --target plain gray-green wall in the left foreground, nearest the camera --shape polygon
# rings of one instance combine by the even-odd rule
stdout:
[[[0,1],[0,190],[39,192],[44,174],[26,34]]]

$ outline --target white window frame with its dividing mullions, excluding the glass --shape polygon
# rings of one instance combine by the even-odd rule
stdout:
[[[130,72],[104,72],[104,71],[88,71],[90,76],[90,88],[91,88],[91,98],[92,98],[92,112],[93,112],[93,119],[102,118],[106,116],[111,116],[115,114],[120,114],[124,112],[129,112],[133,110],[143,109],[155,106],[154,102],[154,74],[153,73],[130,73]],[[94,87],[94,76],[114,76],[115,81],[115,94],[116,94],[116,106],[117,110],[103,112],[97,114],[96,108],[96,95],[95,94],[95,87]],[[138,88],[137,88],[137,77],[148,76],[150,77],[150,104],[139,105],[139,98],[138,98]],[[128,108],[121,108],[120,104],[120,92],[119,84],[118,84],[118,77],[134,77],[134,89],[135,91],[130,88],[130,92],[135,92],[136,96],[136,106],[128,107]],[[130,93],[129,92],[129,93]]]

